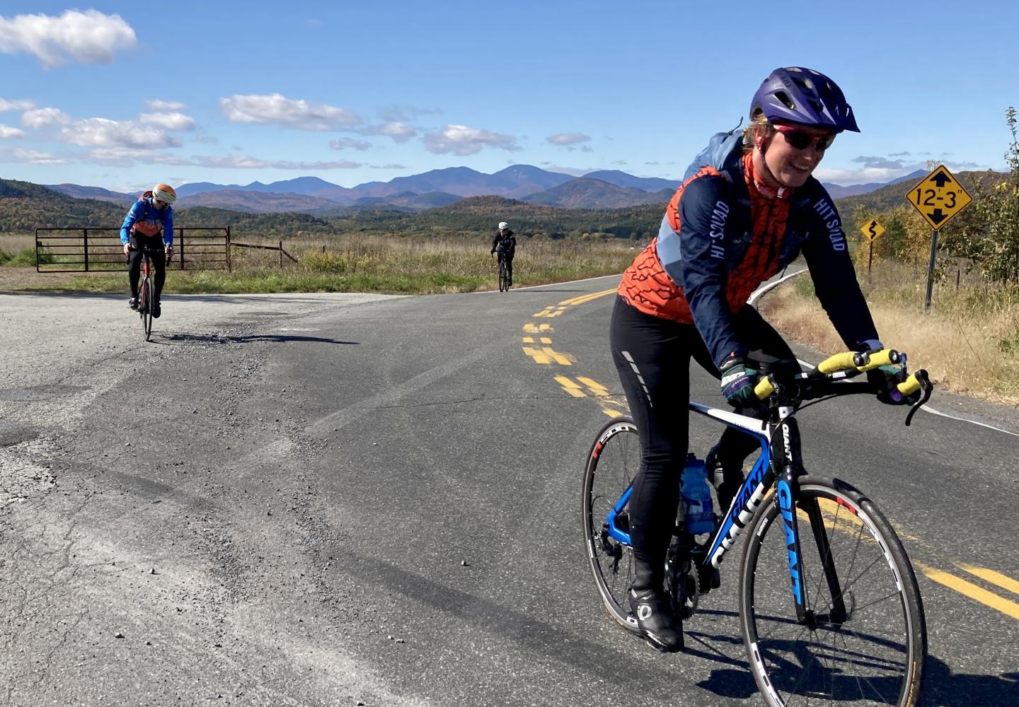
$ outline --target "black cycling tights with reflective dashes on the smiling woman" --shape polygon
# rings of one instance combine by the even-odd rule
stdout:
[[[737,339],[754,352],[754,358],[795,361],[789,344],[752,307],[733,314],[731,322]],[[641,445],[640,470],[630,496],[636,573],[633,586],[658,589],[676,525],[680,475],[687,455],[690,359],[715,378],[720,375],[693,324],[646,315],[622,298],[616,300],[612,310],[609,340]],[[743,459],[757,448],[753,438],[726,428],[718,444],[725,486],[739,488]],[[698,456],[706,452],[695,451]]]

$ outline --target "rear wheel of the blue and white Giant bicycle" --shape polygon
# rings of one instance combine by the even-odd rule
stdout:
[[[639,633],[627,591],[633,549],[605,533],[605,515],[633,482],[640,466],[640,439],[630,418],[615,418],[598,431],[584,467],[582,521],[588,562],[605,610],[615,622]],[[625,512],[621,511],[621,515]],[[621,523],[622,525],[622,523]],[[629,526],[629,524],[627,524]]]

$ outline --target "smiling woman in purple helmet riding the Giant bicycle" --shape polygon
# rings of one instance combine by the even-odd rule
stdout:
[[[689,441],[690,360],[720,379],[721,394],[738,412],[755,415],[761,363],[772,371],[798,372],[799,366],[747,296],[801,253],[817,298],[846,345],[882,347],[839,212],[812,176],[844,130],[859,132],[835,81],[802,67],[772,71],[751,101],[750,124],[711,139],[668,203],[657,237],[620,282],[610,344],[641,443],[629,501],[629,599],[641,633],[658,650],[683,645],[663,575]],[[869,373],[887,375],[875,382],[889,391],[898,375]],[[907,401],[892,392],[878,399]],[[743,460],[755,445],[729,431],[707,454],[721,512],[739,490]]]

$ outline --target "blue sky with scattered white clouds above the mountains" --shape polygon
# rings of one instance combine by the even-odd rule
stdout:
[[[155,8],[159,8],[158,10]],[[816,176],[1004,169],[1019,3],[0,4],[0,176],[343,186],[533,164],[679,178],[776,66],[862,132]]]

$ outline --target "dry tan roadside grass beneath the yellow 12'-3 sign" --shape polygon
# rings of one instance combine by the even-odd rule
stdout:
[[[909,352],[940,385],[995,402],[1019,404],[1019,288],[935,286],[924,314],[925,274],[886,263],[864,293],[886,345]],[[784,334],[826,354],[845,349],[813,297],[809,276],[780,285],[761,312]]]

